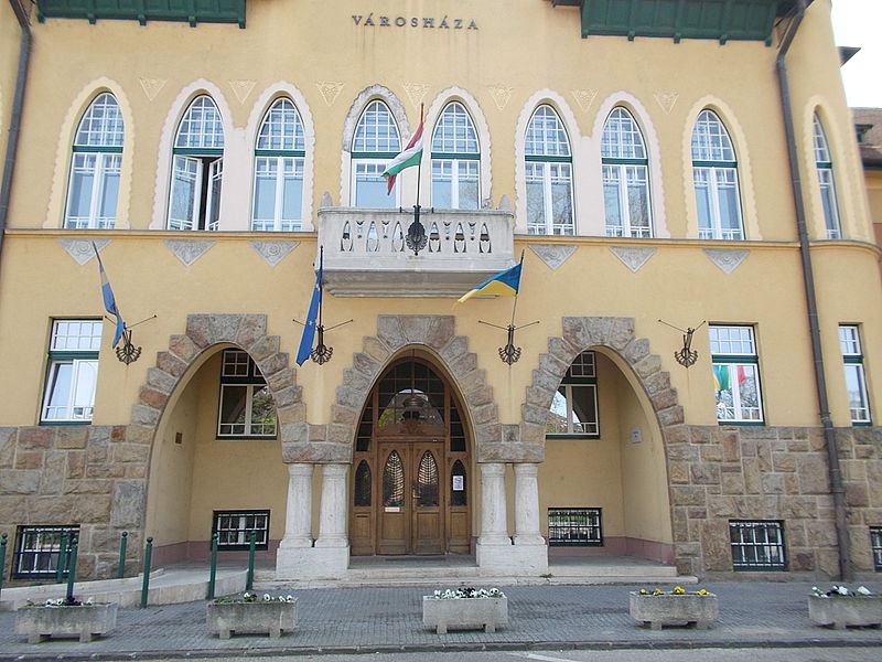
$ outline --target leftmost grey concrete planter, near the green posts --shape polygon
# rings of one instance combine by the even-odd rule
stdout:
[[[25,634],[28,643],[47,637],[79,637],[88,642],[95,634],[107,634],[117,624],[117,602],[75,607],[21,607],[15,611],[15,634]]]

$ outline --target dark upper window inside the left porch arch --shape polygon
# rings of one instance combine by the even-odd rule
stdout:
[[[217,436],[276,436],[272,394],[255,362],[241,350],[224,350]]]

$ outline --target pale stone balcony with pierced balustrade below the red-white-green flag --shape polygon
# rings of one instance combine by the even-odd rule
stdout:
[[[407,246],[412,222],[412,210],[320,209],[327,291],[335,297],[461,297],[515,264],[509,211],[423,210],[427,245],[419,254]]]

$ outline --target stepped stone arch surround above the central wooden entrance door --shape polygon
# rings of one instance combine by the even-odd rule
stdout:
[[[487,446],[501,441],[499,415],[487,385],[486,372],[477,367],[477,354],[469,351],[469,339],[455,335],[453,316],[381,314],[377,318],[377,334],[364,339],[363,350],[353,354],[352,366],[343,372],[331,406],[331,423],[309,426],[309,438],[299,444],[286,442],[286,462],[346,461],[352,459],[353,440],[362,415],[366,394],[396,352],[407,345],[422,344],[443,361],[444,369],[455,380],[474,433],[474,450],[478,461],[486,457]],[[305,425],[305,424],[304,424]],[[323,444],[311,442],[321,439]],[[326,459],[334,457],[334,460]]]

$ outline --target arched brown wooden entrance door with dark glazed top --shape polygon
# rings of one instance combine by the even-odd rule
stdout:
[[[428,360],[401,357],[380,376],[353,467],[353,555],[469,553],[469,437],[453,388]]]

